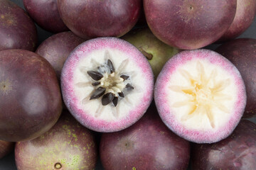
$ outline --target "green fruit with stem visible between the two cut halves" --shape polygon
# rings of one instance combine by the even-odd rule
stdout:
[[[131,30],[124,35],[122,39],[127,40],[137,47],[147,60],[149,60],[155,79],[167,60],[181,51],[161,42],[161,40],[157,39],[156,36],[151,33],[149,28]]]

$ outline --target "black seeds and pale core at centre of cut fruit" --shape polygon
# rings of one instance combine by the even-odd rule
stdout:
[[[90,100],[102,97],[102,106],[113,103],[117,106],[119,98],[124,98],[124,89],[131,91],[134,87],[126,83],[129,79],[128,75],[115,73],[114,66],[111,60],[107,60],[107,67],[110,72],[87,71],[87,74],[94,80],[92,86],[95,86],[95,91],[92,92]],[[99,67],[98,67],[99,68]]]

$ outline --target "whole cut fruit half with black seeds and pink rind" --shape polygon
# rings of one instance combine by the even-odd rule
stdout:
[[[75,48],[61,74],[63,100],[87,128],[114,132],[134,124],[153,98],[146,57],[119,38],[95,38]]]

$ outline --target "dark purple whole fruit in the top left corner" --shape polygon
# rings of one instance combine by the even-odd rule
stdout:
[[[36,26],[23,8],[9,0],[0,1],[0,51],[36,50]]]

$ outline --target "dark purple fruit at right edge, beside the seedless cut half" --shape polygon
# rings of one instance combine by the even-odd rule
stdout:
[[[247,103],[243,118],[256,116],[256,40],[240,38],[220,45],[216,50],[238,68],[245,81]]]

